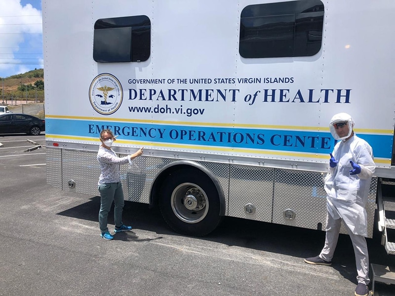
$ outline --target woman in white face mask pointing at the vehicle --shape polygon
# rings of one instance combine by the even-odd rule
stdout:
[[[114,236],[109,232],[107,227],[108,213],[114,201],[114,232],[130,231],[131,226],[123,225],[122,211],[124,205],[122,184],[120,182],[119,165],[130,163],[131,160],[143,154],[143,148],[140,148],[132,155],[125,157],[118,157],[111,149],[114,141],[116,141],[111,130],[105,129],[100,133],[100,145],[97,152],[97,161],[100,165],[100,178],[98,189],[100,192],[100,211],[99,211],[99,226],[100,236],[107,240],[112,240]]]

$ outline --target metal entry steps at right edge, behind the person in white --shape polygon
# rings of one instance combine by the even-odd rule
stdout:
[[[381,244],[387,254],[395,255],[395,182],[379,179],[377,191]]]

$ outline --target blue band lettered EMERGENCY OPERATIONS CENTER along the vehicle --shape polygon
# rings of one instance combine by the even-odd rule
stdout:
[[[326,154],[336,141],[329,132],[252,129],[232,127],[179,126],[52,119],[45,120],[47,134],[99,137],[102,128],[110,128],[118,139],[227,148],[253,148],[276,151]],[[374,156],[391,158],[392,135],[358,134],[373,148]]]

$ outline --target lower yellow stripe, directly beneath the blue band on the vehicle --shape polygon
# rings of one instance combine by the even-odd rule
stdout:
[[[70,137],[70,136],[63,136],[63,135],[46,135],[45,138],[57,138],[57,139],[66,139],[66,140],[100,142],[100,140],[96,139],[96,138]],[[129,144],[129,145],[136,145],[136,146],[149,145],[150,147],[187,148],[187,149],[197,149],[197,150],[205,149],[205,150],[210,150],[210,151],[238,152],[238,153],[247,153],[247,154],[248,153],[256,153],[256,154],[262,154],[262,155],[293,156],[293,157],[306,157],[306,158],[315,158],[315,159],[328,159],[328,155],[329,155],[329,154],[326,155],[326,154],[313,154],[313,153],[302,153],[302,152],[282,152],[282,151],[259,150],[259,149],[223,148],[223,147],[198,146],[198,145],[180,145],[180,144],[171,144],[171,143],[151,143],[151,142],[143,142],[143,141],[117,140],[117,142],[120,144]],[[391,165],[391,159],[387,159],[387,158],[375,158],[374,161],[377,163]]]

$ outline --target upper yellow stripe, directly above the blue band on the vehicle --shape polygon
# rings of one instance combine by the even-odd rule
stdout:
[[[88,116],[66,116],[66,115],[45,115],[46,118],[54,119],[77,119],[90,121],[103,121],[106,118],[88,117]],[[308,130],[308,131],[329,131],[329,127],[314,127],[314,126],[298,126],[298,125],[273,125],[273,124],[244,124],[244,123],[218,123],[218,122],[188,122],[188,121],[165,121],[165,120],[151,120],[151,119],[125,119],[125,118],[111,118],[111,121],[128,122],[128,123],[156,123],[156,124],[175,124],[175,125],[190,125],[190,126],[222,126],[222,127],[248,127],[261,129],[276,129],[276,130]],[[370,133],[370,134],[394,134],[393,130],[386,129],[355,129],[356,133]]]

